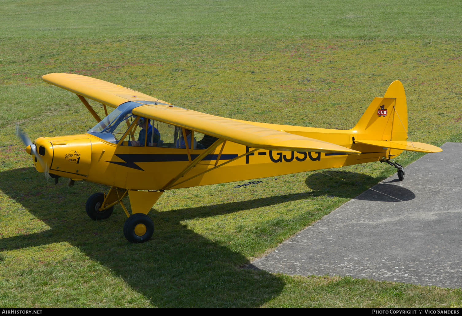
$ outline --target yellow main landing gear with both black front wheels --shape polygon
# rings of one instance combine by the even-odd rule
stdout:
[[[94,221],[104,220],[112,214],[114,206],[120,204],[128,219],[123,225],[123,234],[131,243],[144,243],[154,233],[154,223],[147,215],[163,191],[135,191],[112,187],[108,194],[98,192],[91,195],[86,204],[87,215]],[[128,213],[122,199],[130,197],[132,215]]]

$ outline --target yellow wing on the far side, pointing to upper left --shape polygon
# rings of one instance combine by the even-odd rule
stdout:
[[[121,85],[73,73],[50,73],[42,76],[42,79],[55,86],[109,105],[110,107],[118,107],[127,101],[158,101],[160,103],[167,103],[139,91],[122,87]]]

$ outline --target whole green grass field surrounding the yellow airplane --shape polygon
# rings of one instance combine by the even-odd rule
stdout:
[[[128,244],[120,207],[106,221],[85,214],[106,188],[53,185],[14,133],[16,123],[32,139],[95,125],[75,95],[40,79],[72,72],[205,113],[340,129],[399,79],[410,138],[462,142],[461,6],[381,4],[1,1],[0,306],[461,307],[460,289],[242,269],[392,167],[168,191],[150,212],[152,239]]]

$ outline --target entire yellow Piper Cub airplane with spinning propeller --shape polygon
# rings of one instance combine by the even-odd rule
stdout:
[[[376,97],[350,130],[265,124],[227,119],[176,107],[158,98],[103,80],[67,73],[43,80],[75,93],[97,120],[85,134],[40,137],[33,142],[18,128],[34,166],[51,178],[86,180],[110,187],[95,193],[85,209],[93,220],[108,218],[120,204],[130,242],[151,238],[147,215],[165,190],[281,174],[336,168],[371,161],[403,167],[392,158],[403,150],[442,149],[408,142],[407,105],[400,81]],[[101,119],[87,101],[103,104]],[[107,107],[114,107],[108,113]],[[128,196],[130,215],[122,199]]]

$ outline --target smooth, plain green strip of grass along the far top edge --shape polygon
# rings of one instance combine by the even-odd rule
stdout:
[[[460,40],[453,1],[18,1],[0,7],[5,39],[316,38]],[[14,21],[14,22],[13,22]]]

